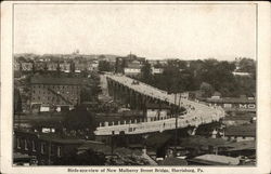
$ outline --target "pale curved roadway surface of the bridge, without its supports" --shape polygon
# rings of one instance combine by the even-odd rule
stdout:
[[[133,79],[121,75],[106,75],[111,80],[118,82],[122,85],[128,86],[130,90],[134,90],[143,95],[154,97],[156,99],[162,99],[168,102],[169,104],[175,104],[175,94],[167,94],[167,92],[151,86],[149,84],[139,82],[139,84],[133,84]],[[178,99],[177,99],[178,101]],[[210,107],[205,104],[181,98],[181,106],[186,109],[186,112],[182,116],[177,117],[178,129],[186,126],[197,128],[201,124],[207,124],[211,122],[217,122],[224,117],[224,110],[221,107]],[[119,134],[121,131],[125,134],[144,134],[151,132],[163,132],[166,130],[176,129],[176,118],[160,119],[156,121],[143,120],[137,123],[127,122],[125,124],[113,124],[113,125],[101,125],[96,128],[95,135],[112,135]]]

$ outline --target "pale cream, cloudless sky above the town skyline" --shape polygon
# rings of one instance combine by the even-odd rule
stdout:
[[[256,58],[254,4],[16,4],[14,52]]]

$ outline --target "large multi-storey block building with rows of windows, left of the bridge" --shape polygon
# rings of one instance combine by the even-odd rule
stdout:
[[[80,103],[80,92],[87,83],[88,79],[83,78],[33,77],[30,104],[75,106]]]

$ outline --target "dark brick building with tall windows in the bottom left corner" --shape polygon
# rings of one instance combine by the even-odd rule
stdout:
[[[85,139],[59,137],[55,134],[14,131],[14,152],[36,157],[39,165],[57,164],[60,160],[76,153]]]

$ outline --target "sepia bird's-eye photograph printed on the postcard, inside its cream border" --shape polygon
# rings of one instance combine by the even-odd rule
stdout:
[[[10,23],[12,168],[259,164],[257,3],[13,3]]]

